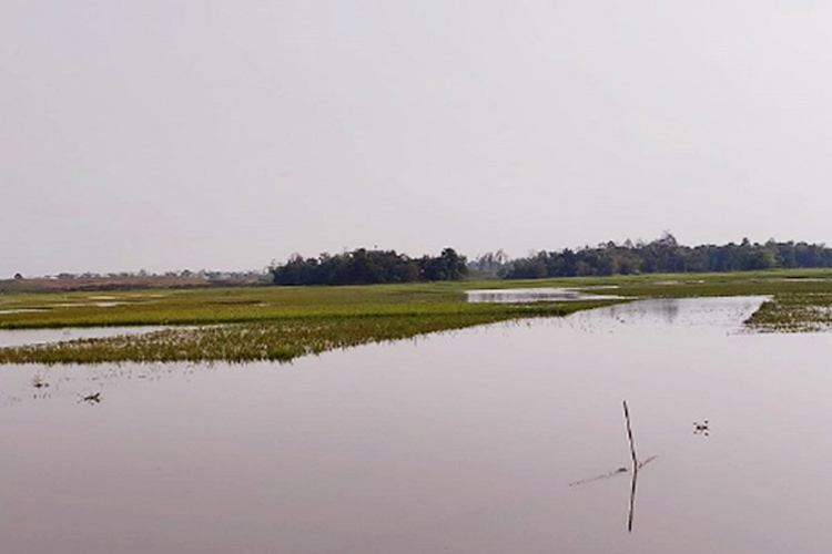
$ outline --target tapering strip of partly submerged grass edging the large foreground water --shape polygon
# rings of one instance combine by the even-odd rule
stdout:
[[[412,338],[518,317],[564,316],[610,304],[570,302],[491,312],[286,318],[280,321],[180,327],[139,336],[80,339],[0,349],[0,363],[288,361],[368,342]]]

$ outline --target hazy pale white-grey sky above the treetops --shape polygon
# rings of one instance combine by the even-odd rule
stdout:
[[[832,240],[832,2],[3,0],[0,277]]]

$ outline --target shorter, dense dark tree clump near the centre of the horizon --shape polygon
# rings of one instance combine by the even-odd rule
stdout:
[[[468,275],[465,256],[445,248],[439,256],[410,258],[395,250],[358,248],[343,254],[303,258],[293,254],[285,264],[272,265],[275,285],[369,285],[458,280]]]

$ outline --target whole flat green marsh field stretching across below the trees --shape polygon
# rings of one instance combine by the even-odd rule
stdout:
[[[353,287],[247,287],[0,295],[0,330],[101,326],[171,328],[141,336],[0,348],[0,363],[291,360],[335,348],[625,300],[467,304],[483,288],[574,287],[627,299],[771,296],[747,325],[805,331],[832,325],[832,271],[673,274]],[[616,287],[593,288],[593,287]]]

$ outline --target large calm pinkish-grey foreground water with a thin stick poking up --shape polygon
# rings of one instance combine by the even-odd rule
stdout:
[[[3,550],[825,552],[832,335],[743,331],[760,301],[293,365],[7,366]]]

